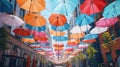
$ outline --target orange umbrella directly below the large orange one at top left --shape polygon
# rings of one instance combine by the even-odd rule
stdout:
[[[46,25],[46,19],[43,16],[40,16],[39,14],[26,14],[24,16],[24,20],[27,24],[31,26],[45,26]]]

